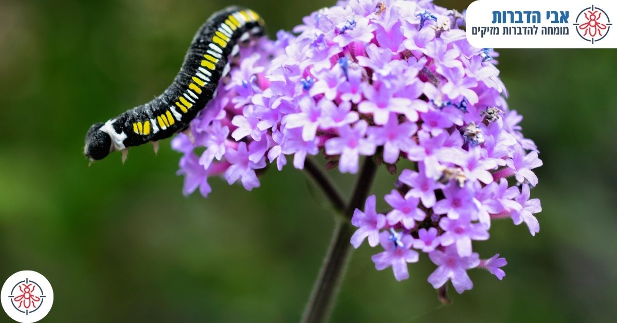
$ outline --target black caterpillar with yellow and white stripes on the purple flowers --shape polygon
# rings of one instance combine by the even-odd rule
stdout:
[[[136,106],[86,133],[84,155],[90,161],[113,151],[155,143],[186,130],[189,122],[216,96],[221,78],[230,70],[238,44],[263,35],[263,20],[251,9],[237,6],[215,12],[197,30],[172,84],[152,101]]]

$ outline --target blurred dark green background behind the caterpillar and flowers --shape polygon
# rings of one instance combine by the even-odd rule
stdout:
[[[234,0],[235,1],[235,0]],[[333,0],[238,0],[273,35]],[[194,31],[226,1],[0,1],[0,279],[41,272],[56,300],[44,322],[294,322],[333,218],[305,175],[269,171],[247,192],[212,179],[181,194],[179,154],[162,143],[88,167],[89,125],[170,83]],[[437,1],[462,10],[463,1]],[[473,290],[441,306],[426,256],[396,282],[363,245],[335,322],[615,322],[617,51],[502,50],[510,107],[544,167],[540,233],[496,222],[482,256],[507,276],[472,271]],[[351,175],[329,172],[349,192]],[[391,190],[379,174],[374,193]],[[8,321],[0,314],[0,321]]]

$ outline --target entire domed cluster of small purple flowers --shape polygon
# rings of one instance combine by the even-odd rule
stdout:
[[[435,288],[450,280],[459,293],[471,289],[473,268],[502,279],[505,259],[480,259],[472,241],[505,217],[539,232],[540,201],[529,191],[542,162],[505,102],[497,53],[471,46],[463,15],[427,0],[340,1],[303,22],[297,36],[281,31],[242,49],[191,135],[173,140],[184,193],[207,196],[207,178],[219,174],[251,190],[260,169],[281,170],[286,156],[302,169],[322,153],[352,174],[371,157],[402,169],[384,196],[389,211],[379,213],[373,195],[352,218],[352,245],[368,238],[384,250],[376,269],[407,279],[422,251],[437,265]]]

